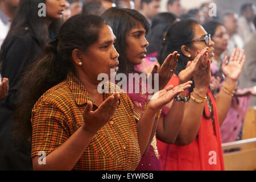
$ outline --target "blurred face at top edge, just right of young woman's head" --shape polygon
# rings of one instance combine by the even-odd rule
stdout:
[[[160,0],[141,0],[141,13],[152,21],[152,18],[160,11]]]

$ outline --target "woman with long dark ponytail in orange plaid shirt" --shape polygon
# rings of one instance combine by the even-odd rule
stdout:
[[[17,125],[32,142],[35,170],[137,167],[151,131],[145,127],[137,134],[133,104],[117,85],[108,82],[105,92],[98,91],[98,75],[110,77],[110,69],[118,70],[114,42],[112,29],[100,16],[76,15],[28,69],[19,92]],[[160,90],[141,120],[152,123],[158,110],[182,91]]]

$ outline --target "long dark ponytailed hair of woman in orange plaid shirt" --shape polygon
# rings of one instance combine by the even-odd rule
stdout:
[[[20,104],[16,108],[15,138],[31,139],[31,110],[36,101],[52,86],[59,84],[73,71],[73,49],[86,51],[98,40],[104,19],[96,15],[79,14],[61,26],[59,35],[44,48],[41,59],[27,68],[18,91]]]

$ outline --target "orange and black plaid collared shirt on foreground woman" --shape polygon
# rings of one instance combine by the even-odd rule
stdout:
[[[109,85],[118,89],[112,83]],[[104,93],[104,100],[110,95]],[[125,93],[119,95],[121,102],[112,119],[94,135],[74,170],[134,170],[137,167],[141,154],[133,104]],[[32,158],[38,156],[39,151],[48,155],[79,129],[84,122],[82,111],[87,101],[97,107],[73,73],[39,98],[31,117]]]

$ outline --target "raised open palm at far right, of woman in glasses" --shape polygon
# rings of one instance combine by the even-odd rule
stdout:
[[[229,63],[226,64],[226,60],[228,60],[228,56],[225,56],[222,61],[222,72],[225,77],[231,78],[234,81],[237,81],[240,73],[242,72],[243,64],[245,63],[245,55],[243,55],[245,51],[242,49],[240,52],[240,48],[234,49],[230,58]]]

